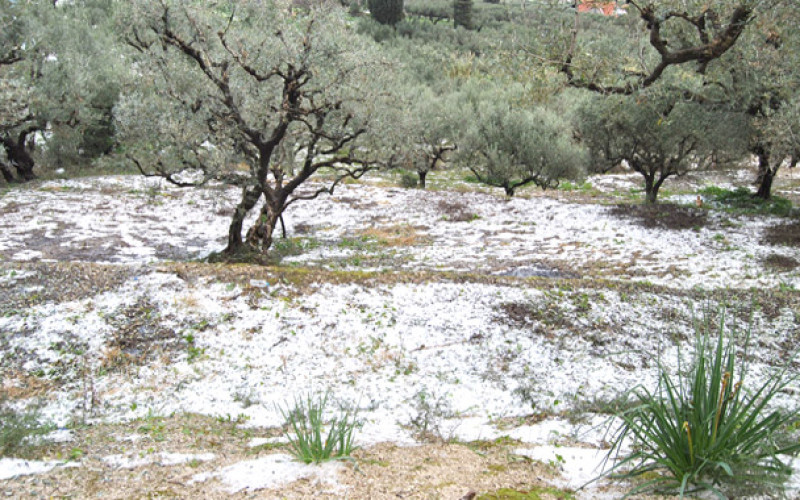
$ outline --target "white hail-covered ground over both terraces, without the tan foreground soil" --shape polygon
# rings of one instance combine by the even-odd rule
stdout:
[[[4,383],[21,384],[11,374],[48,380],[42,411],[60,426],[191,412],[269,428],[294,397],[328,391],[359,408],[362,446],[415,444],[415,422],[429,411],[444,437],[508,435],[524,444],[520,454],[547,462],[556,453],[565,474],[558,484],[577,487],[596,474],[603,417],[593,412],[636,384],[653,386],[656,364],[674,369],[679,347],[688,354],[704,293],[755,289],[758,302],[758,289],[800,286],[797,268],[764,263],[775,254],[800,260],[798,248],[762,242],[780,222],[770,217],[711,212],[704,227],[668,231],[585,202],[370,184],[292,207],[285,222],[295,248],[282,268],[231,275],[167,262],[220,250],[235,202],[233,191],[138,177],[51,181],[0,198],[0,292],[42,293],[47,280],[39,283],[31,261],[131,269],[118,286],[79,298],[3,307]],[[301,283],[291,277],[300,265],[375,273]],[[436,271],[450,272],[438,279]],[[519,278],[529,274],[574,279]],[[737,307],[749,299],[736,297],[746,295],[729,299],[740,329],[747,315]],[[753,314],[753,383],[798,339],[797,303],[767,305]],[[800,387],[789,390],[778,403],[794,404]],[[551,418],[508,428],[531,413]],[[289,474],[272,457],[269,466],[243,463],[192,481],[256,488],[242,482],[248,470]],[[115,455],[107,463],[212,459]],[[331,474],[315,477],[328,484]]]

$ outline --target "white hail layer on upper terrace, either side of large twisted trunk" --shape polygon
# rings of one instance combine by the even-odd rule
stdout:
[[[592,179],[601,186],[630,181],[630,176]],[[139,177],[50,181],[0,199],[0,210],[12,207],[0,220],[0,254],[14,260],[120,263],[202,257],[223,248],[236,203],[237,191],[219,186],[181,190]],[[453,207],[466,220],[448,220]],[[595,269],[611,279],[678,288],[800,285],[797,271],[764,267],[763,259],[772,254],[800,259],[797,248],[762,243],[764,229],[780,223],[767,216],[710,212],[708,227],[667,231],[612,216],[602,205],[362,183],[293,205],[284,219],[289,236],[317,242],[286,262],[359,267],[363,259],[352,259],[359,252],[342,246],[346,239],[367,229],[405,226],[420,243],[361,251],[374,258],[371,268],[513,274],[544,264],[578,276]],[[724,228],[714,229],[723,220]]]

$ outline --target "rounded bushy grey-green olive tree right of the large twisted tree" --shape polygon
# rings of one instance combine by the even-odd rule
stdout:
[[[547,189],[584,174],[586,153],[555,110],[515,105],[500,91],[465,101],[458,158],[478,181],[514,196],[529,184]]]

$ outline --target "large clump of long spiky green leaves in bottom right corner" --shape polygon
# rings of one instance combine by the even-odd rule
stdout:
[[[707,490],[726,498],[724,491],[780,488],[791,474],[781,456],[796,455],[800,444],[786,438],[797,421],[797,410],[773,409],[770,401],[798,375],[790,362],[771,373],[754,389],[748,375],[748,329],[737,349],[735,328],[726,334],[725,312],[718,328],[710,314],[697,325],[695,351],[688,370],[678,361],[672,376],[659,361],[655,391],[631,391],[635,405],[618,414],[621,424],[608,458],[619,461],[607,473],[633,479],[640,493],[686,494]],[[716,331],[716,340],[711,332]],[[793,358],[792,358],[793,359]],[[632,441],[632,451],[621,447]],[[643,481],[643,482],[642,482]]]

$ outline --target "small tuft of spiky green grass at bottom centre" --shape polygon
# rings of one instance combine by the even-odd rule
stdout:
[[[353,432],[359,425],[357,411],[341,410],[338,416],[326,422],[327,404],[327,393],[316,399],[309,394],[305,399],[295,399],[291,410],[280,408],[289,429],[286,438],[292,454],[304,463],[349,458],[355,449]]]

